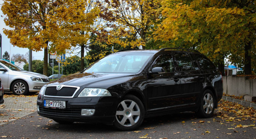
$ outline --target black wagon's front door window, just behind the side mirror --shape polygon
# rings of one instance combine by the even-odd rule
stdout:
[[[165,72],[174,72],[173,57],[171,55],[161,55],[154,62],[152,68],[162,67]]]

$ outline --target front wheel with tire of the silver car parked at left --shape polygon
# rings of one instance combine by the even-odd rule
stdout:
[[[26,95],[28,90],[28,84],[25,81],[17,80],[12,84],[12,93],[14,95]]]

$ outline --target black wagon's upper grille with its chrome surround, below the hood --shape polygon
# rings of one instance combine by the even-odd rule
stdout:
[[[44,97],[57,97],[57,98],[73,98],[76,92],[80,89],[78,86],[61,85],[61,88],[57,90],[59,85],[47,85],[45,88]]]

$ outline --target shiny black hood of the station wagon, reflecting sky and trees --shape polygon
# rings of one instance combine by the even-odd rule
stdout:
[[[124,76],[134,75],[131,73],[78,73],[59,78],[55,81],[47,83],[47,85],[71,85],[83,86],[97,81],[111,80],[113,78],[121,78]]]

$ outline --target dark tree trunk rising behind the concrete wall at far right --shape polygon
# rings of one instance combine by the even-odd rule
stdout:
[[[251,41],[247,42],[244,47],[244,74],[251,75],[252,74],[252,65],[251,65]]]

